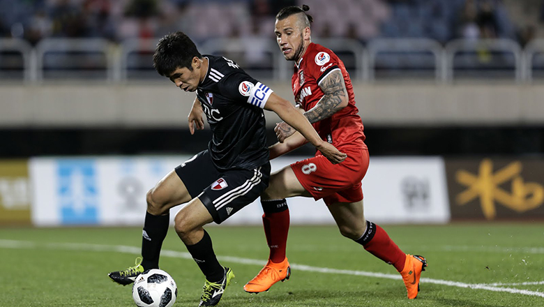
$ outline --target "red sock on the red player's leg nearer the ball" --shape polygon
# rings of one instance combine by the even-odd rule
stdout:
[[[285,259],[287,248],[287,233],[289,232],[289,209],[281,212],[265,212],[262,215],[262,225],[266,242],[269,244],[269,259],[280,263]]]

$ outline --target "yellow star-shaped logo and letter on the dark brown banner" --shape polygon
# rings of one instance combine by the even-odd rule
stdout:
[[[482,160],[478,174],[459,170],[455,173],[455,179],[463,186],[467,186],[467,190],[456,197],[456,202],[464,205],[480,197],[483,214],[488,220],[497,214],[495,201],[517,212],[535,209],[544,201],[544,187],[536,182],[525,183],[520,176],[521,171],[522,163],[515,161],[493,172],[493,163],[490,159]],[[511,192],[499,188],[507,181],[511,181]]]

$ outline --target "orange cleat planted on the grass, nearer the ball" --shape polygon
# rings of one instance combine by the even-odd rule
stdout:
[[[289,279],[289,276],[291,276],[291,267],[287,258],[280,263],[269,260],[259,274],[243,286],[243,290],[249,293],[268,291],[273,284],[280,280],[285,281]]]

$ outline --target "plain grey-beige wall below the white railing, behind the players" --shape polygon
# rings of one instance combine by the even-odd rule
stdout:
[[[289,82],[264,81],[293,101]],[[365,125],[504,125],[544,123],[544,86],[355,82]],[[195,93],[167,80],[146,84],[0,84],[0,127],[186,128]],[[264,112],[275,126],[279,118]],[[208,124],[206,123],[206,127]]]

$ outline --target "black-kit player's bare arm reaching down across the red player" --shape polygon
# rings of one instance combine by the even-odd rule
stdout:
[[[289,101],[281,98],[275,93],[271,93],[271,96],[266,101],[266,105],[264,105],[264,109],[278,114],[283,121],[299,131],[308,142],[312,143],[315,148],[321,151],[323,156],[330,160],[331,163],[340,163],[347,157],[345,153],[338,151],[332,144],[322,140],[308,119],[306,119],[303,114],[299,113]]]

